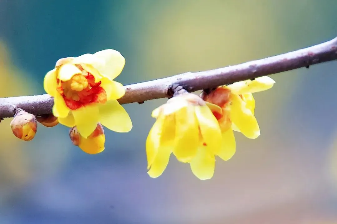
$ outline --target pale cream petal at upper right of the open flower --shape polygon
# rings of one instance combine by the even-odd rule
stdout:
[[[105,62],[103,65],[95,64],[95,68],[98,69],[103,76],[115,79],[121,74],[125,65],[125,58],[120,52],[113,49],[106,49],[94,53],[94,56]]]

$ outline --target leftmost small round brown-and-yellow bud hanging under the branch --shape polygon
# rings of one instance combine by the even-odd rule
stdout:
[[[20,108],[14,109],[14,113],[14,118],[10,122],[13,134],[24,141],[32,140],[37,131],[35,116]]]

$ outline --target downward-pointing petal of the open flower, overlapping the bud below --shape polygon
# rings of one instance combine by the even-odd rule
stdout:
[[[86,105],[72,110],[78,132],[87,138],[97,127],[99,111],[97,105]]]

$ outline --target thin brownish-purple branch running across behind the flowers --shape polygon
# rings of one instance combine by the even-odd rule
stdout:
[[[125,86],[126,94],[118,101],[143,103],[146,100],[173,96],[173,85],[189,92],[215,88],[261,76],[281,73],[337,59],[337,37],[297,51],[267,57],[243,64],[204,72],[187,72],[163,79]],[[13,117],[15,107],[35,115],[52,113],[54,99],[48,94],[0,98],[0,118]]]

